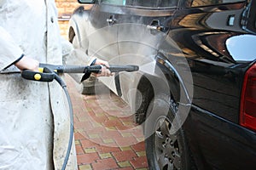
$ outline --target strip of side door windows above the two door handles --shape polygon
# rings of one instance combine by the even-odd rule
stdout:
[[[147,8],[176,7],[178,0],[102,0],[102,3]]]

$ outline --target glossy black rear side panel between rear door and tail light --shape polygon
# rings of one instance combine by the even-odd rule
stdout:
[[[218,5],[218,8],[207,6],[178,10],[179,18],[173,22],[169,32],[175,42],[183,45],[180,48],[189,59],[194,82],[193,104],[236,123],[241,78],[246,68],[230,55],[226,41],[245,32],[239,29],[236,21],[243,6],[244,3],[236,3]],[[230,15],[236,17],[234,26],[227,26]]]

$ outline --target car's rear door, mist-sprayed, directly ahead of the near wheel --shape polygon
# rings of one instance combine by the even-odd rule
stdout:
[[[110,1],[102,0],[102,5]],[[118,8],[116,8],[118,7]],[[117,28],[118,56],[110,63],[145,65],[154,62],[158,46],[169,30],[177,0],[122,0],[112,1],[109,25]],[[141,72],[121,72],[115,75],[116,92],[131,104]]]

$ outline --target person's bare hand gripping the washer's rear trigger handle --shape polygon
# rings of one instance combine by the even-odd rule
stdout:
[[[32,59],[30,57],[24,56],[17,63],[15,63],[15,66],[18,67],[20,71],[23,71],[23,70],[38,71],[39,62],[36,59]]]

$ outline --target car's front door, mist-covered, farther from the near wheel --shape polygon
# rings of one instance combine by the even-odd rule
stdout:
[[[118,2],[118,1],[116,1]],[[111,60],[119,55],[117,27],[113,26],[111,18],[119,11],[118,3],[113,1],[96,1],[90,9],[89,22],[87,26],[88,54],[99,59]],[[101,78],[108,88],[117,94],[114,77]]]

